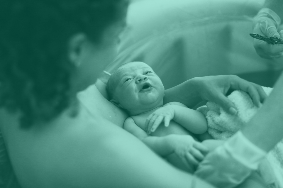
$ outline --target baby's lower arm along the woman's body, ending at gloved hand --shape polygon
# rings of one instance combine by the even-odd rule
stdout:
[[[126,119],[123,128],[143,141],[160,156],[166,157],[175,153],[187,167],[190,167],[192,164],[198,165],[208,153],[208,149],[195,141],[190,135],[149,136],[135,124],[131,117]]]

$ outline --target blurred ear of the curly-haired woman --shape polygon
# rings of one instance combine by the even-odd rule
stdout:
[[[84,44],[87,42],[87,36],[84,33],[77,33],[72,36],[69,40],[68,56],[69,60],[76,66],[79,67],[82,62],[82,49]]]

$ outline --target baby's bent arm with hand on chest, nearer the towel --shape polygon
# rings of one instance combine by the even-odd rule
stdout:
[[[181,103],[171,102],[165,104],[163,108],[153,112],[147,118],[148,133],[154,132],[162,121],[165,122],[165,126],[169,126],[168,121],[170,120],[174,120],[194,134],[202,134],[207,130],[204,114],[189,109]]]

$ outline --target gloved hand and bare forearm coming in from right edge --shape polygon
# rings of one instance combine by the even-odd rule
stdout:
[[[218,187],[235,187],[253,170],[258,169],[267,152],[283,137],[282,96],[281,73],[274,89],[255,116],[224,145],[210,152],[195,174]]]

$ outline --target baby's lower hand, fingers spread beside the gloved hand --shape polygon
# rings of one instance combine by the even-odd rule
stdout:
[[[173,135],[172,135],[173,136]],[[208,148],[194,140],[189,135],[174,135],[173,147],[174,153],[182,160],[184,165],[192,170],[204,159],[204,156],[209,152]]]

